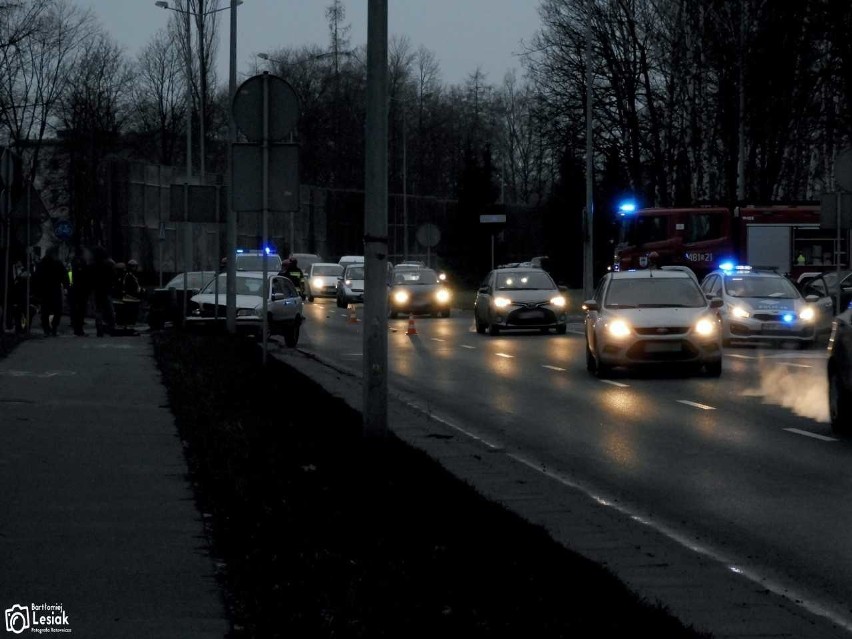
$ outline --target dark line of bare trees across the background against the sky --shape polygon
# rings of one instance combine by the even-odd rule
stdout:
[[[216,9],[228,4],[173,3],[207,14],[192,24],[196,172],[202,120],[206,171],[226,166],[227,82],[211,61],[227,35],[227,12]],[[366,51],[351,42],[340,0],[317,10],[326,42],[252,60],[300,96],[303,183],[361,189]],[[554,245],[576,245],[588,35],[599,224],[627,194],[667,206],[807,200],[834,188],[833,160],[852,133],[849,2],[540,0],[539,14],[525,44],[507,43],[522,47],[522,69],[503,78],[473,69],[446,83],[433,51],[392,37],[392,193],[458,199],[470,217],[501,198],[525,204],[540,211]],[[43,141],[65,145],[74,158],[65,205],[98,239],[92,199],[104,158],[185,163],[182,16],[164,11],[163,28],[134,59],[71,0],[0,2],[0,18],[0,125],[10,144],[34,149],[30,167]]]

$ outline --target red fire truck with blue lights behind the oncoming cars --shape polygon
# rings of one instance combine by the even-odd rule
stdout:
[[[703,277],[720,264],[774,268],[792,279],[847,268],[849,232],[820,228],[818,204],[622,210],[613,270],[688,266]],[[654,255],[656,254],[656,255]]]

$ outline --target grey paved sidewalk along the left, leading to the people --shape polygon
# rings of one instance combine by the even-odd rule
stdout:
[[[76,637],[226,635],[167,404],[144,335],[34,337],[0,360],[0,609]]]

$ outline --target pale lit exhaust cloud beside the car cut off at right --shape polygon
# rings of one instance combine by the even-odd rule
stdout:
[[[758,374],[757,386],[744,390],[744,397],[762,397],[763,403],[784,406],[801,417],[829,421],[828,382],[823,369],[792,368],[761,360]]]

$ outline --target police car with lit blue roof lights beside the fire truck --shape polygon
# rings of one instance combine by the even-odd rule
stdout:
[[[722,264],[704,278],[701,288],[723,301],[719,314],[725,344],[808,346],[831,327],[831,315],[815,304],[817,296],[803,298],[793,282],[772,269]]]

